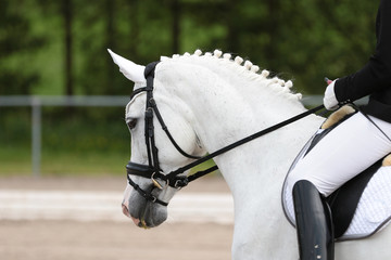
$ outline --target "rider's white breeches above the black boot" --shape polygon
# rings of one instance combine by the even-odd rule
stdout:
[[[391,123],[370,117],[391,138]],[[391,153],[391,142],[363,114],[356,113],[336,127],[302,158],[288,177],[292,191],[297,181],[308,180],[325,196]]]

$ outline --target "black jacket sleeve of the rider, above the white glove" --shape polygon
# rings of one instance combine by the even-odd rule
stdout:
[[[381,0],[376,18],[376,52],[357,73],[338,79],[339,102],[355,101],[391,88],[391,0]]]

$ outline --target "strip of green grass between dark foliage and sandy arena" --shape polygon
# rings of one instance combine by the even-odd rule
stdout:
[[[129,153],[119,151],[42,151],[41,176],[125,176]],[[212,160],[194,167],[192,172],[213,166]],[[29,147],[0,147],[0,176],[30,176]]]

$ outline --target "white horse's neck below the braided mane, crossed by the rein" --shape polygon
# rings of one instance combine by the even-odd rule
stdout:
[[[173,69],[175,75],[168,73]],[[209,153],[305,110],[292,94],[281,93],[287,90],[276,91],[273,89],[276,86],[266,86],[270,84],[266,79],[251,83],[189,64],[172,64],[157,75],[162,82],[173,82],[167,94],[191,110],[191,123]],[[159,81],[157,84],[163,86]],[[234,197],[250,192],[249,187],[257,180],[267,183],[277,178],[280,182],[319,123],[318,117],[310,116],[216,157]]]

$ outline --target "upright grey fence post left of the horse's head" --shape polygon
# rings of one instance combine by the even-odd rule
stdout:
[[[31,98],[31,165],[34,177],[40,177],[41,162],[41,102]]]

